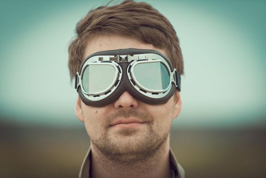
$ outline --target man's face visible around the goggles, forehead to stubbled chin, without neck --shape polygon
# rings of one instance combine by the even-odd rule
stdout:
[[[83,57],[98,51],[123,48],[154,49],[167,56],[165,50],[134,38],[96,36],[88,41]],[[104,155],[120,158],[148,155],[169,138],[172,121],[180,113],[182,105],[179,92],[176,98],[173,96],[165,104],[150,105],[124,92],[117,101],[104,107],[87,106],[78,98],[76,114],[85,123],[92,146]]]

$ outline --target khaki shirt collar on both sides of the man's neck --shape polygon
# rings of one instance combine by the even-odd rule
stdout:
[[[89,147],[89,150],[80,168],[79,178],[90,178],[89,177],[90,160],[91,160],[91,149]],[[177,162],[172,149],[170,149],[170,166],[172,172],[175,173],[175,175],[173,175],[174,178],[185,178],[185,171],[183,167]]]

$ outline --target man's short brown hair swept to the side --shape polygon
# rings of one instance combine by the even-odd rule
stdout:
[[[76,26],[77,36],[69,46],[69,70],[73,79],[83,61],[86,43],[92,35],[116,34],[134,37],[165,49],[174,68],[183,74],[183,56],[172,24],[156,9],[144,2],[123,1],[115,6],[91,10]],[[128,35],[130,34],[130,35]]]

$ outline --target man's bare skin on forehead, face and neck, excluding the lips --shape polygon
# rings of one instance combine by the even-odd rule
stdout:
[[[94,52],[139,48],[164,49],[134,38],[116,35],[95,36],[87,43],[84,58]],[[170,129],[182,107],[180,94],[165,104],[149,105],[128,92],[104,107],[85,105],[78,97],[76,115],[85,123],[91,139],[91,172],[98,177],[172,177],[170,170]],[[112,126],[118,120],[138,120],[130,127]]]

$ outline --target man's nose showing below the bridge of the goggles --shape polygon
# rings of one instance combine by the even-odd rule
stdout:
[[[128,92],[124,92],[116,101],[115,108],[137,108],[138,100],[132,97]]]

